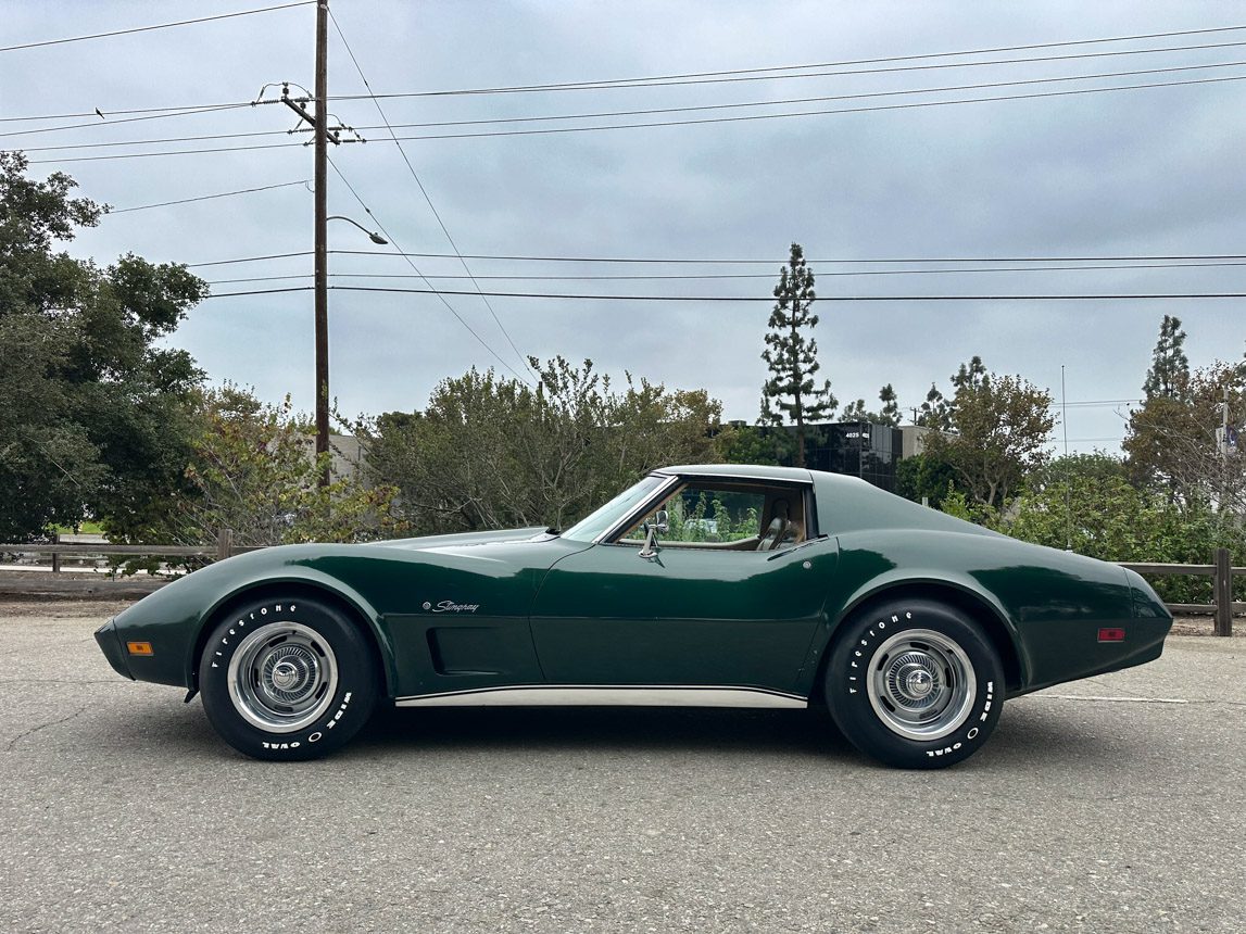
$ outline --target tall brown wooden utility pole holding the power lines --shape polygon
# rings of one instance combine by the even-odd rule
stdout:
[[[329,451],[329,0],[315,7],[315,453]],[[329,465],[319,483],[329,486]]]

